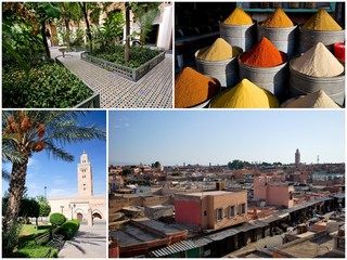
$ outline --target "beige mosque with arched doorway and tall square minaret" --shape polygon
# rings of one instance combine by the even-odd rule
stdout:
[[[106,219],[105,195],[93,195],[93,173],[86,152],[77,165],[78,195],[75,197],[49,198],[51,212],[63,213],[66,219],[78,219],[92,224],[93,219]]]

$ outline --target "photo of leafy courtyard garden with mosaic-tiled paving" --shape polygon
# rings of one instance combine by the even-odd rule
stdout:
[[[172,108],[172,3],[1,4],[2,107]]]

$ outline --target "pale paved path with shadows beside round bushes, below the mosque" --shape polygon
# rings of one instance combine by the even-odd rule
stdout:
[[[106,258],[106,221],[94,220],[94,225],[81,224],[77,234],[66,240],[59,258]]]

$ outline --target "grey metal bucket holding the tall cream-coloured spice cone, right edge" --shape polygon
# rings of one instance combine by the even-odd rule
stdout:
[[[290,95],[297,96],[323,90],[335,103],[343,106],[345,100],[345,73],[336,77],[312,77],[292,68],[290,63]]]

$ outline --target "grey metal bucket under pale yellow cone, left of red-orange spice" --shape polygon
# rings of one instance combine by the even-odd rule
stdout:
[[[242,52],[241,48],[235,48],[240,53]],[[195,52],[197,72],[205,76],[218,79],[220,86],[223,88],[234,87],[239,82],[237,56],[224,61],[204,61],[197,58],[196,56],[198,52],[204,51],[207,48],[204,48]]]

